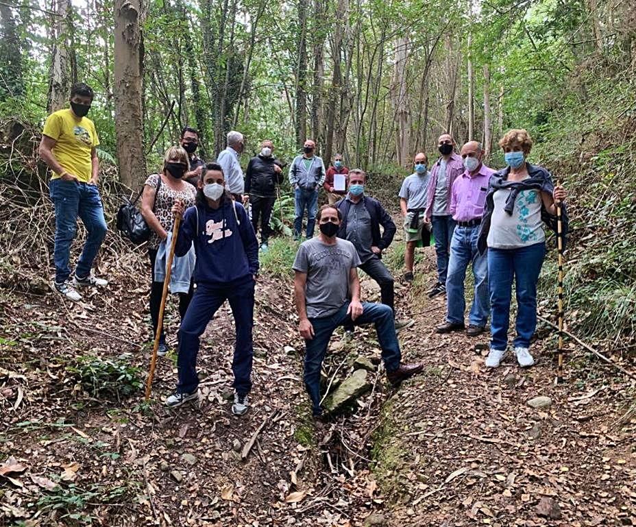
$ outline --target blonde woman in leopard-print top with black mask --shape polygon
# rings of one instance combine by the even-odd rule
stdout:
[[[148,224],[151,234],[148,240],[148,256],[151,265],[150,318],[153,335],[156,334],[159,308],[163,292],[165,260],[169,236],[172,234],[174,215],[172,206],[182,201],[186,206],[195,204],[196,189],[183,179],[190,168],[188,153],[182,147],[170,147],[164,156],[160,173],[149,175],[143,189],[141,214]],[[159,260],[159,261],[158,261]],[[171,278],[171,292],[179,295],[179,314],[183,319],[192,299],[193,256],[175,258]],[[168,352],[165,334],[161,334],[158,355]]]

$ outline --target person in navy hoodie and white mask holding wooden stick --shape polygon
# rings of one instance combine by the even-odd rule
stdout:
[[[196,205],[184,214],[182,202],[177,201],[172,210],[175,216],[183,216],[176,256],[183,256],[191,244],[195,244],[197,289],[179,330],[179,383],[166,405],[175,408],[199,398],[196,370],[199,337],[215,312],[228,300],[236,323],[232,413],[243,415],[247,411],[247,393],[252,388],[254,284],[258,273],[254,228],[245,208],[236,204],[225,190],[223,169],[217,163],[208,163],[201,173]]]

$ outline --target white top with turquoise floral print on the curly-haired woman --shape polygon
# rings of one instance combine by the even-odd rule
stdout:
[[[546,240],[541,223],[541,193],[520,191],[512,215],[504,210],[510,188],[500,188],[493,194],[494,210],[488,231],[488,247],[517,249]]]

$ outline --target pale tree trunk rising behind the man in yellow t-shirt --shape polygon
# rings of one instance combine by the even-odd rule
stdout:
[[[71,0],[58,0],[56,27],[53,30],[53,49],[51,50],[51,76],[49,77],[49,95],[47,110],[55,112],[67,106],[73,84],[71,57],[73,51],[69,45],[72,31]],[[75,70],[77,71],[77,70]]]

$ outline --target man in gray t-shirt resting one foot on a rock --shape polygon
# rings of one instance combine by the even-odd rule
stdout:
[[[382,348],[382,360],[391,384],[400,384],[419,373],[421,363],[402,364],[395,336],[393,310],[384,304],[360,302],[356,267],[360,258],[354,245],[337,238],[341,212],[325,205],[317,215],[320,234],[300,245],[293,269],[298,330],[305,339],[304,382],[311,397],[314,417],[320,406],[320,369],[329,339],[338,326],[374,323]]]

